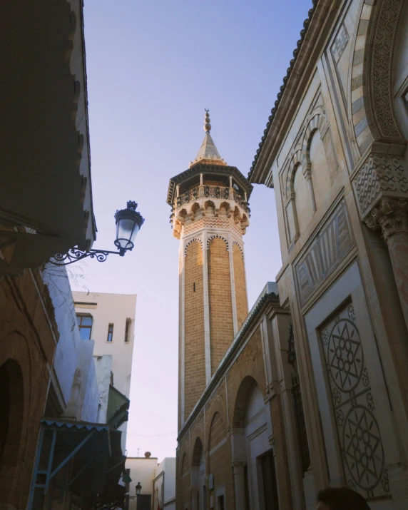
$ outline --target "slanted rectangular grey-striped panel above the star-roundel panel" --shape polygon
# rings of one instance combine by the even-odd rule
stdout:
[[[342,202],[295,266],[302,305],[335,270],[352,245],[345,204]]]

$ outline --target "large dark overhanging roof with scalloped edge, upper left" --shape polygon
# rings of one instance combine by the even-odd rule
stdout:
[[[0,230],[35,231],[14,253],[33,267],[95,239],[81,0],[0,10]],[[32,258],[30,256],[32,255]],[[37,256],[38,255],[38,256]]]

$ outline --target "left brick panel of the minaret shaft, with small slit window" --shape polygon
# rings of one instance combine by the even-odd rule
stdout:
[[[205,389],[203,251],[198,241],[185,256],[185,412],[187,419]]]

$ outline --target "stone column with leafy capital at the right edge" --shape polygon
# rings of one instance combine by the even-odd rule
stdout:
[[[383,197],[365,223],[369,228],[382,230],[408,327],[408,200]]]

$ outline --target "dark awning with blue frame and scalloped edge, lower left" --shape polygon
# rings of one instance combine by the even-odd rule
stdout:
[[[125,461],[120,431],[106,424],[44,418],[27,508],[33,508],[36,494],[47,494],[53,489],[58,473],[68,466],[63,492],[86,497],[95,506],[99,506],[103,494],[102,506],[123,506],[123,491],[118,489],[118,481],[125,470]],[[51,490],[51,499],[53,494]]]

